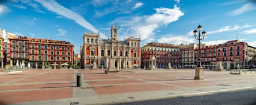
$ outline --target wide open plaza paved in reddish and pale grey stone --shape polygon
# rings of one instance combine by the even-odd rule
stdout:
[[[76,87],[83,73],[84,87]],[[204,70],[204,80],[194,80],[193,69],[23,70],[0,72],[0,104],[113,104],[198,96],[233,90],[254,90],[255,75]]]

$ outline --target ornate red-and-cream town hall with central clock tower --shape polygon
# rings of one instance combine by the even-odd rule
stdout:
[[[129,37],[118,41],[117,26],[111,27],[111,39],[100,39],[100,34],[84,33],[81,46],[81,68],[92,68],[94,60],[98,68],[108,68],[114,58],[116,68],[140,67],[140,38]]]

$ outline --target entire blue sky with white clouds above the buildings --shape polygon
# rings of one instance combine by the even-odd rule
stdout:
[[[0,1],[0,28],[34,38],[70,41],[79,53],[83,33],[100,31],[110,37],[119,26],[119,40],[129,35],[147,42],[194,43],[198,25],[207,31],[203,43],[213,45],[236,38],[256,47],[254,0],[9,0]]]

